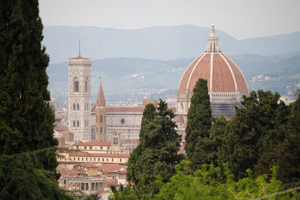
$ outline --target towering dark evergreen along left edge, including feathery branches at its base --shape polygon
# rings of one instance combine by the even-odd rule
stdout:
[[[0,1],[0,199],[68,199],[58,189],[38,0]]]

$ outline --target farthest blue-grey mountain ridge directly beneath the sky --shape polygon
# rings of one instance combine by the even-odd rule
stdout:
[[[171,60],[200,55],[211,28],[194,25],[124,30],[98,27],[45,26],[43,30],[50,63],[64,62],[79,54],[93,60],[130,57]],[[237,40],[216,29],[226,55],[276,55],[300,51],[300,32]]]

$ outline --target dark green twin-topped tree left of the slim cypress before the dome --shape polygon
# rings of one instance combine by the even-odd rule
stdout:
[[[180,136],[174,129],[175,114],[167,109],[167,103],[160,99],[158,112],[153,104],[146,105],[141,123],[140,145],[128,160],[128,179],[135,184],[140,197],[158,193],[156,175],[167,182],[174,175],[174,165],[182,159],[178,155]]]

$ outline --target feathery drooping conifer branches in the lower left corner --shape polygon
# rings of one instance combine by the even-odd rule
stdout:
[[[0,199],[73,199],[58,188],[55,173],[44,169],[48,148],[15,155],[0,155]]]

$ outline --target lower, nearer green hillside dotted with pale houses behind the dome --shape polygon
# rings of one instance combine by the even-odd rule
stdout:
[[[300,52],[275,56],[257,54],[229,55],[243,72],[249,90],[271,90],[285,94],[291,86],[300,83]],[[141,58],[110,58],[94,60],[92,64],[92,100],[96,99],[101,76],[104,93],[108,101],[141,100],[144,88],[152,98],[176,98],[179,81],[194,58],[154,60]],[[49,65],[49,89],[51,94],[67,92],[67,62]],[[249,82],[253,76],[264,74],[270,80]],[[158,91],[164,90],[160,93]]]

